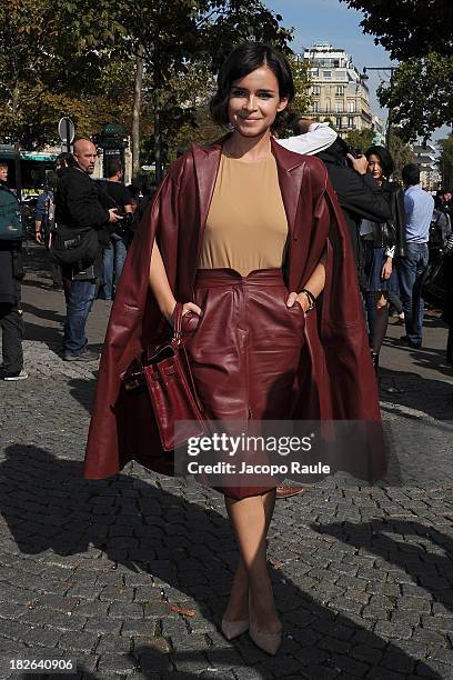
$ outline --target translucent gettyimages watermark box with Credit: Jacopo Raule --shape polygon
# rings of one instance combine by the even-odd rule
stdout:
[[[202,434],[192,436],[190,422],[175,430],[187,442],[174,452],[175,473],[220,488],[318,482],[338,471],[371,481],[382,451],[380,422],[208,421]]]

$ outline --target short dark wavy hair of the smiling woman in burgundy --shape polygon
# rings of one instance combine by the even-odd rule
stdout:
[[[262,66],[266,66],[274,73],[279,82],[280,98],[288,98],[288,101],[293,99],[293,77],[283,54],[262,42],[244,42],[226,57],[219,71],[218,90],[210,101],[211,118],[217,124],[228,126],[230,122],[228,102],[233,82]],[[289,116],[288,109],[280,111],[272,127],[281,127]]]

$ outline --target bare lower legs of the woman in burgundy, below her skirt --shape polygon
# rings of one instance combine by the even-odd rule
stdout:
[[[238,621],[249,618],[248,597],[250,589],[253,620],[256,628],[263,632],[278,632],[281,628],[266,563],[266,533],[274,503],[274,490],[242,500],[225,498],[225,506],[234,527],[241,560],[234,574],[231,598],[224,619]]]

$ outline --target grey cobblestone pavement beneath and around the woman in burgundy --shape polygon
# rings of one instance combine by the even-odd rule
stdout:
[[[389,332],[387,479],[331,479],[278,502],[284,640],[270,658],[219,633],[236,559],[219,494],[138,464],[82,479],[97,367],[59,358],[62,297],[30,257],[30,379],[0,386],[0,678],[33,677],[12,659],[72,659],[87,679],[453,678],[453,380],[436,319],[419,351]],[[108,311],[91,314],[94,344]]]

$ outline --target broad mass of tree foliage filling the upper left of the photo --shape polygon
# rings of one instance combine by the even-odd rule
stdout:
[[[217,136],[207,101],[235,44],[261,40],[291,52],[281,20],[260,0],[8,0],[0,3],[0,138],[42,147],[56,141],[62,114],[81,134],[115,119],[130,131],[142,44],[142,148],[153,153],[159,111],[168,161],[190,132]]]

